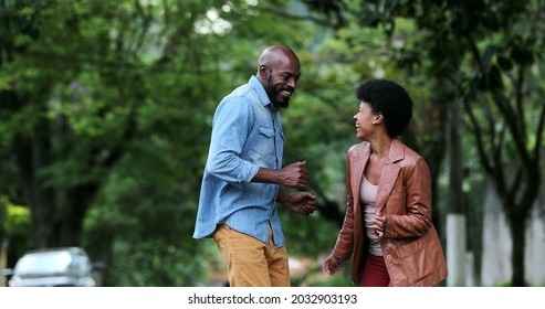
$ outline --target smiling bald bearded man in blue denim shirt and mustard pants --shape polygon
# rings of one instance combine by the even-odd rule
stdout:
[[[232,287],[287,287],[287,251],[275,202],[308,216],[316,210],[306,187],[305,161],[282,168],[287,108],[301,76],[300,61],[285,45],[265,49],[248,84],[216,110],[193,238],[212,237]]]

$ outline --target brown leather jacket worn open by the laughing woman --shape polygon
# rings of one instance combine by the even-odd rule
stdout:
[[[358,196],[369,156],[370,143],[367,141],[348,150],[346,214],[333,251],[338,259],[348,259],[354,253],[352,280],[356,285],[368,253]],[[428,164],[399,139],[391,142],[389,162],[382,169],[376,211],[387,217],[380,245],[392,286],[437,286],[447,278],[443,251],[431,222]]]

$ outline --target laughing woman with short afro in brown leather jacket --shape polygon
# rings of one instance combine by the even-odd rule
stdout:
[[[397,83],[371,79],[357,88],[356,136],[347,153],[347,207],[325,271],[335,275],[354,253],[352,280],[363,287],[437,286],[447,278],[431,222],[428,164],[398,139],[412,100]]]

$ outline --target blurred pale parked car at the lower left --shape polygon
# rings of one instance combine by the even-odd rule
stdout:
[[[101,264],[91,263],[84,249],[62,247],[25,253],[8,269],[10,287],[94,287]]]

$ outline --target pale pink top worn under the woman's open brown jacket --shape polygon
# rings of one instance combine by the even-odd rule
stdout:
[[[367,238],[369,238],[369,253],[375,256],[382,256],[382,249],[378,242],[377,234],[375,234],[374,220],[377,203],[377,190],[378,185],[375,185],[367,181],[364,175],[361,181],[361,188],[359,189],[359,200],[361,201],[361,210],[364,211],[365,231]]]

